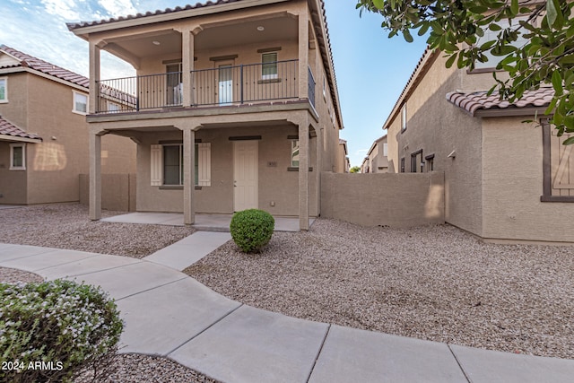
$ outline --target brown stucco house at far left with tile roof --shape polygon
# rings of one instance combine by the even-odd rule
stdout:
[[[0,46],[0,204],[79,201],[79,175],[89,170],[89,84]],[[104,140],[101,156],[104,172],[135,170],[135,144],[126,138]]]

